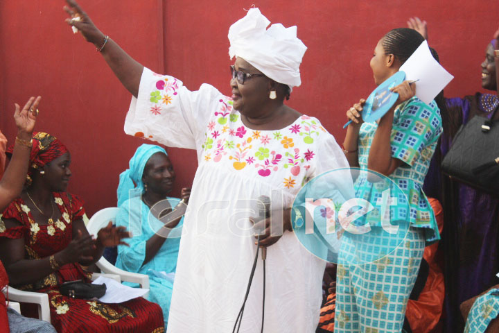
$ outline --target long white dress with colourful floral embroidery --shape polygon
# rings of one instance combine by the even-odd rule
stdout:
[[[184,219],[168,332],[231,332],[256,253],[249,216],[255,199],[291,207],[306,180],[348,167],[334,137],[313,117],[281,130],[243,125],[232,101],[211,85],[191,92],[144,69],[125,120],[129,135],[198,153]],[[176,161],[175,168],[182,168]],[[275,200],[279,198],[279,200]],[[286,231],[268,248],[265,332],[315,332],[325,262]],[[263,271],[256,267],[240,332],[261,327]]]

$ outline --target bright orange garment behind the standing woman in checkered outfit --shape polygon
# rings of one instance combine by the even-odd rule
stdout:
[[[428,198],[435,212],[440,234],[444,227],[442,207],[437,199]],[[418,300],[409,300],[405,316],[408,318],[413,333],[426,333],[439,323],[444,307],[444,274],[437,263],[438,243],[427,246],[423,258],[430,266],[428,279]]]

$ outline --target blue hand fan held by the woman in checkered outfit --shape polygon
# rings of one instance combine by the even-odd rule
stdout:
[[[374,92],[371,92],[367,97],[366,103],[362,110],[362,119],[366,122],[373,122],[383,117],[386,112],[395,104],[399,99],[399,94],[390,92],[389,89],[403,83],[405,73],[397,71],[394,75],[390,76],[385,82],[378,85]],[[352,121],[346,123],[343,128],[347,128]]]

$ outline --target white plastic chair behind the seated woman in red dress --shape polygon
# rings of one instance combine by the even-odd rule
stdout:
[[[99,210],[91,216],[89,223],[87,225],[87,230],[90,234],[96,235],[100,228],[103,228],[112,221],[113,224],[116,221],[116,214],[118,214],[118,207],[108,207],[103,210]],[[149,276],[145,274],[132,273],[123,271],[123,269],[117,268],[112,265],[110,262],[105,259],[105,257],[101,257],[98,262],[96,262],[100,271],[103,271],[105,274],[117,274],[120,276],[121,281],[132,282],[140,284],[141,288],[149,289]],[[147,297],[148,293],[143,297]]]

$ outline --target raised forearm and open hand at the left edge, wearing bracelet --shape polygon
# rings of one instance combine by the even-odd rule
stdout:
[[[17,125],[17,136],[12,158],[0,180],[0,212],[3,212],[10,201],[21,194],[26,180],[31,153],[31,135],[35,127],[40,99],[42,99],[40,96],[36,99],[31,97],[22,110],[18,104],[15,104],[14,119]]]

